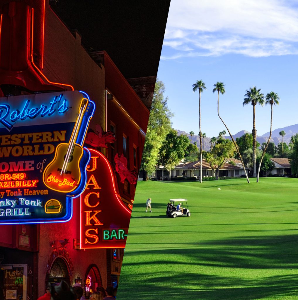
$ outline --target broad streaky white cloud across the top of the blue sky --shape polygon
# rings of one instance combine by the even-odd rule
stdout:
[[[172,0],[164,46],[176,53],[161,58],[297,54],[298,9],[290,4],[296,2]]]

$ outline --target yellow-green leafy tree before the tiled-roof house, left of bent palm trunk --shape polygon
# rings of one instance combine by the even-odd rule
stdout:
[[[219,143],[215,144],[212,151],[206,153],[206,161],[215,172],[216,180],[218,180],[220,167],[228,160],[228,158],[233,157],[235,152],[236,148],[232,141],[219,140]]]

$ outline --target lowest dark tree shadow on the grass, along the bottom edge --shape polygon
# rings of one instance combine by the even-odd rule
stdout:
[[[269,296],[284,299],[285,296],[294,295],[298,298],[296,275],[268,276],[262,280],[202,274],[194,276],[184,272],[177,272],[173,276],[168,276],[166,272],[146,275],[150,280],[140,282],[139,276],[136,276],[127,282],[124,271],[117,296],[122,300],[130,300],[133,291],[134,299],[142,300],[253,300]],[[160,283],[163,283],[163,287],[157,288]],[[133,289],[129,289],[129,286],[133,286]]]

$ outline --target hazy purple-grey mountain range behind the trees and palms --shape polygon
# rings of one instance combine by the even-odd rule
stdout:
[[[284,131],[286,133],[286,135],[283,137],[283,141],[284,143],[289,144],[290,143],[290,139],[293,135],[295,135],[296,133],[298,133],[298,124],[295,125],[290,125],[287,127],[283,127],[283,128],[277,128],[275,130],[272,131],[272,137],[271,137],[271,142],[275,143],[275,145],[277,146],[278,143],[281,143],[281,136],[279,135],[280,131]],[[197,142],[198,147],[200,146],[200,137],[198,135],[193,135],[192,137],[190,136],[189,133],[185,132],[185,131],[181,131],[181,130],[177,130],[178,135],[180,134],[184,134],[187,135],[187,137],[194,142]],[[242,130],[237,132],[236,134],[233,134],[233,138],[236,140],[237,137],[242,137],[242,135],[246,134],[246,133],[251,133],[250,131],[247,130]],[[262,145],[262,143],[266,143],[268,138],[269,138],[269,131],[266,132],[265,134],[261,135],[261,136],[257,136],[257,141]],[[231,139],[230,136],[224,136],[224,138],[227,139]],[[208,151],[210,149],[211,143],[210,143],[211,137],[205,137],[203,139],[203,150]]]

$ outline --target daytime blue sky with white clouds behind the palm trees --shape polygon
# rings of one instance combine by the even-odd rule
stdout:
[[[217,116],[213,84],[224,82],[220,115],[232,134],[252,129],[252,106],[242,106],[246,90],[274,91],[272,130],[298,123],[298,2],[171,0],[158,79],[167,88],[173,127],[199,133],[198,92],[202,79],[201,130],[217,136],[224,125]],[[257,135],[270,130],[270,106],[256,107]]]

